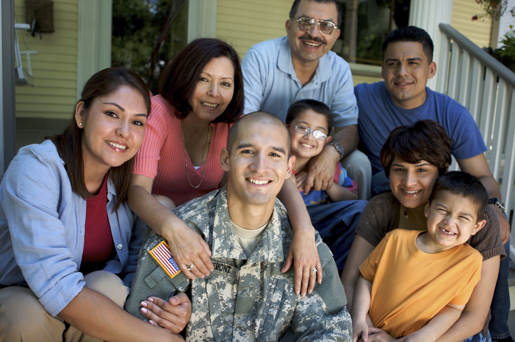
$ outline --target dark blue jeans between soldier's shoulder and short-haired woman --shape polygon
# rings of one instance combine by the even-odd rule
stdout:
[[[367,201],[340,201],[307,207],[311,224],[318,230],[323,242],[333,252],[338,271],[344,268],[347,255],[354,241],[359,216]]]

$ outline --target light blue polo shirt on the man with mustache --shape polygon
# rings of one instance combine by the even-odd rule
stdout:
[[[265,111],[286,120],[295,101],[312,98],[333,112],[334,127],[357,125],[357,105],[349,63],[329,51],[318,61],[315,76],[302,87],[291,62],[288,37],[252,46],[242,61],[245,114]]]

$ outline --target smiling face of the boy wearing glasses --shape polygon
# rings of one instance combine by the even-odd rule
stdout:
[[[311,131],[307,134],[299,133],[295,130],[295,126],[304,126]],[[328,127],[327,119],[322,114],[308,109],[297,115],[297,117],[288,126],[291,135],[291,154],[297,158],[311,158],[318,155],[324,145],[331,141],[331,136],[327,136],[324,140],[315,139],[313,131],[318,130],[329,135],[330,127]]]

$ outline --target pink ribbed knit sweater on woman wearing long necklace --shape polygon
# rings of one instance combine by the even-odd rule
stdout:
[[[226,147],[230,124],[218,123],[211,126],[213,131],[204,180],[194,189],[186,175],[181,121],[174,115],[174,108],[167,100],[161,95],[152,96],[145,140],[136,155],[133,173],[152,178],[152,194],[167,196],[176,206],[217,189],[224,176],[224,171],[220,168],[220,151],[222,147]],[[207,136],[203,139],[207,139]],[[204,164],[195,170],[187,153],[186,159],[191,182],[198,185]]]

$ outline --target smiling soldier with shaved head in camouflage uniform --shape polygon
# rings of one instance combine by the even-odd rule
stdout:
[[[256,132],[260,138],[253,141]],[[230,149],[224,149],[220,157],[222,168],[229,171],[228,184],[174,209],[209,244],[215,269],[205,278],[188,280],[182,273],[170,278],[148,254],[163,240],[149,229],[127,300],[130,313],[145,319],[139,312],[142,300],[150,295],[169,298],[189,288],[192,316],[186,326],[186,340],[277,341],[289,323],[294,340],[351,340],[344,288],[332,253],[318,233],[322,284],[301,297],[294,292],[293,269],[281,273],[293,238],[287,212],[275,198],[295,161],[289,156],[288,139],[286,126],[276,116],[257,112],[239,119],[229,134]],[[247,166],[237,159],[241,153],[239,158]],[[268,183],[254,184],[249,175],[266,178]],[[254,226],[263,226],[263,220],[267,226],[250,255],[235,234],[237,218],[230,215],[241,208],[249,216],[255,214],[250,212],[252,208],[266,209],[260,214],[262,222]]]

